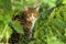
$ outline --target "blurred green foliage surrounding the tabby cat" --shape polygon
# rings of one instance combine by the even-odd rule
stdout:
[[[66,44],[66,0],[0,0],[0,42],[6,42],[7,33],[11,38],[13,30],[10,23],[16,33],[24,33],[20,23],[12,21],[12,16],[23,11],[25,6],[34,4],[40,7],[34,26],[35,41],[24,40],[21,35],[18,44]]]

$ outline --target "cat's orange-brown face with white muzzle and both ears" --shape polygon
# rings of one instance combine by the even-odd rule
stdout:
[[[37,18],[38,8],[24,8],[25,18],[28,21],[34,21]]]

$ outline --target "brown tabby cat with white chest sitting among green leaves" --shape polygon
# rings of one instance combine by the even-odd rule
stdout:
[[[33,28],[37,20],[38,7],[29,8],[24,7],[24,11],[20,15],[15,15],[13,20],[18,20],[23,26],[24,35],[26,38],[32,38]]]

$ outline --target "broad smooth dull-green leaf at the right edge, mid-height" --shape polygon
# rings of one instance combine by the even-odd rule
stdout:
[[[53,19],[52,24],[58,26],[59,29],[66,29],[66,23],[59,19]]]

